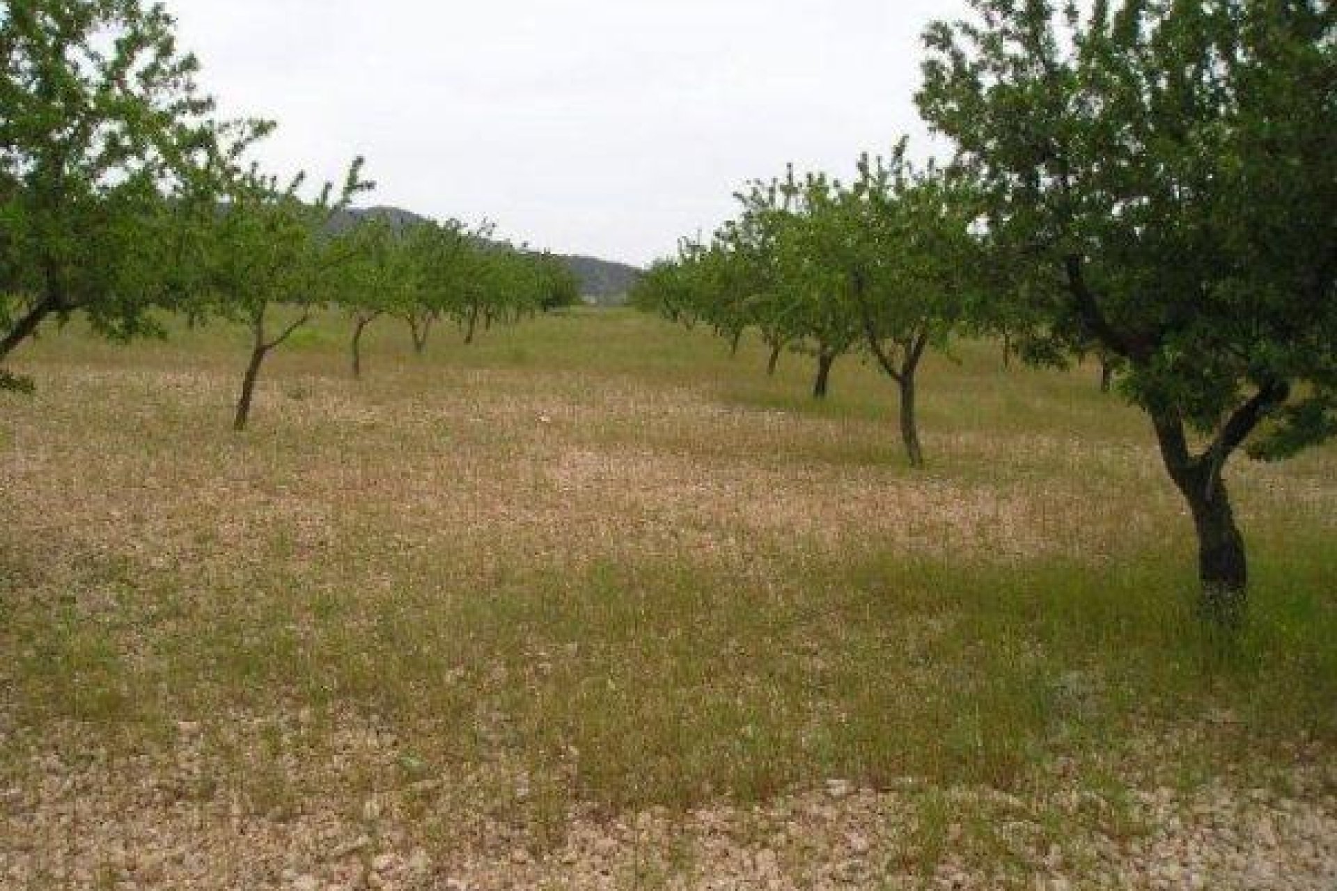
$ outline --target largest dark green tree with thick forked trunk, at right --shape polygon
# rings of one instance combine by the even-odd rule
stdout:
[[[1118,357],[1193,514],[1201,612],[1234,628],[1227,460],[1337,431],[1337,8],[972,7],[928,31],[920,108],[979,176],[991,238],[1058,285],[1028,291],[1039,334]]]

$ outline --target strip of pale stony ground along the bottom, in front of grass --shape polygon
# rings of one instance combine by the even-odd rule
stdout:
[[[1332,767],[1297,769],[1266,788],[1214,781],[1120,793],[1059,783],[1009,795],[912,780],[872,791],[832,779],[757,807],[570,812],[536,846],[532,826],[460,797],[479,788],[463,777],[380,789],[360,807],[320,795],[261,803],[209,780],[199,733],[179,728],[170,761],[33,755],[11,772],[19,784],[0,788],[0,887],[1337,887]]]

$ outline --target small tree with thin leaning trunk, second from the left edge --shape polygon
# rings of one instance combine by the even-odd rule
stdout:
[[[357,192],[372,188],[362,180],[361,170],[358,158],[337,198],[326,183],[320,198],[306,203],[298,195],[301,175],[281,188],[253,167],[233,180],[227,204],[214,214],[207,238],[214,309],[251,330],[250,361],[237,399],[234,430],[246,429],[265,358],[310,321],[316,307],[334,291],[333,277],[353,259],[356,247],[330,238],[329,224]],[[297,313],[277,333],[269,327],[275,306]]]

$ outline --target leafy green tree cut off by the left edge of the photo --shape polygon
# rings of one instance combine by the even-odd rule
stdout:
[[[194,218],[269,126],[210,119],[174,24],[138,0],[0,13],[0,362],[76,311],[107,337],[158,333],[147,310],[193,290]]]

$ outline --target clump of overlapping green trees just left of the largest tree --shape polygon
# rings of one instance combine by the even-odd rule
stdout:
[[[689,327],[705,321],[735,349],[755,326],[770,371],[786,346],[814,354],[818,397],[838,357],[868,349],[900,386],[906,453],[923,464],[915,374],[925,350],[945,346],[983,306],[971,179],[915,170],[901,142],[889,159],[861,158],[850,184],[790,167],[737,198],[742,214],[709,244],[683,240],[677,260],[642,278],[634,305]]]

